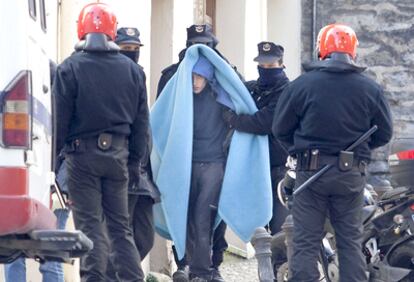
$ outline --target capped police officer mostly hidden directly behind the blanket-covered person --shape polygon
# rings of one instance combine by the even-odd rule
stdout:
[[[193,44],[205,44],[210,48],[213,48],[217,54],[220,55],[224,59],[224,57],[218,52],[215,47],[218,44],[217,38],[213,34],[213,30],[210,25],[192,25],[187,28],[187,42],[186,47],[190,47]],[[164,89],[164,86],[167,84],[168,80],[175,74],[180,65],[181,61],[184,59],[185,51],[187,49],[183,49],[178,57],[178,63],[175,63],[162,71],[161,78],[158,82],[158,89],[157,89],[157,98],[161,94],[161,91]],[[235,67],[233,67],[235,69]],[[237,72],[237,70],[235,69]],[[240,75],[239,75],[240,76]],[[223,262],[223,254],[224,251],[227,249],[228,245],[226,239],[224,238],[226,232],[226,224],[222,221],[220,225],[214,231],[214,238],[213,238],[213,253],[212,253],[212,276],[213,281],[221,282],[224,281],[221,277],[219,267]],[[177,264],[178,270],[173,274],[173,281],[174,282],[187,282],[189,281],[188,276],[188,266],[187,260],[184,257],[182,260],[179,260],[177,257],[177,253],[173,246],[174,258]]]

